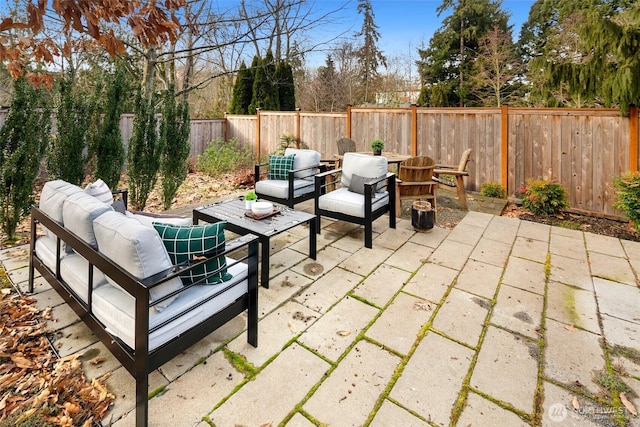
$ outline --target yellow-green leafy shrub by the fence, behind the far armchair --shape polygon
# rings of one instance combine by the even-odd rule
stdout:
[[[252,145],[245,145],[235,138],[229,141],[215,139],[204,153],[198,156],[196,169],[211,176],[233,172],[238,168],[251,168],[255,161]]]

